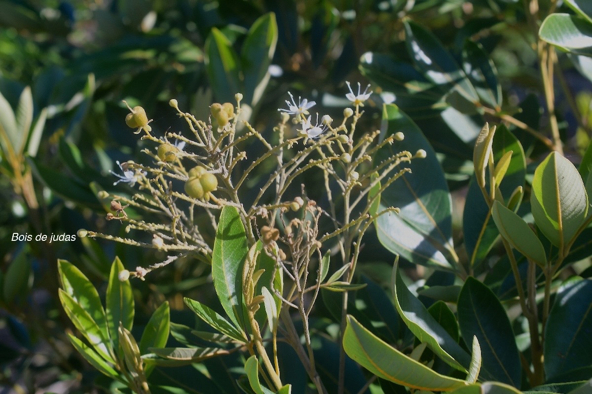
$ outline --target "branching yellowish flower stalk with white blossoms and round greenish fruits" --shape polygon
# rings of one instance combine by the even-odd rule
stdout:
[[[401,141],[403,133],[387,136],[383,141],[378,141],[379,131],[356,136],[356,126],[363,115],[361,107],[372,92],[367,93],[366,87],[362,93],[361,86],[358,86],[356,95],[351,87],[349,89],[347,97],[355,106],[355,112],[346,108],[343,121],[336,127],[327,115],[316,113],[314,118],[309,115],[308,110],[315,105],[314,102],[299,97],[296,103],[290,94],[288,109],[279,110],[281,120],[274,129],[279,141],[274,143],[241,118],[240,93],[236,95],[236,106],[214,103],[207,121],[183,112],[175,99],[170,100],[170,106],[185,119],[189,132],[165,132],[161,137],[149,125],[150,121],[141,107],[132,109],[128,106],[128,126],[136,128],[137,133],[143,132],[141,139],[155,144],[154,148],[143,151],[151,162],[145,165],[134,161],[117,163],[120,172],[112,172],[118,178],[115,184],[127,183],[136,187],[137,191],[131,198],[107,191],[100,191],[98,197],[108,207],[107,219],[119,220],[126,226],[130,237],[79,231],[80,236],[166,252],[166,259],[162,262],[137,267],[132,272],[120,272],[121,280],[130,276],[144,279],[155,269],[185,256],[211,263],[213,245],[208,245],[205,240],[210,237],[204,235],[215,233],[217,211],[224,206],[236,207],[250,248],[244,262],[242,288],[247,308],[246,324],[252,334],[245,334],[245,338],[249,338],[246,349],[251,354],[258,354],[263,361],[259,366],[260,373],[275,389],[280,389],[282,384],[276,346],[279,333],[284,336],[280,340],[294,347],[317,391],[327,392],[317,373],[311,345],[308,318],[314,303],[321,288],[343,292],[343,334],[347,291],[354,279],[362,237],[377,217],[398,213],[395,207],[381,211],[373,211],[372,207],[385,188],[410,171],[403,165],[426,155],[422,150],[416,154],[404,151],[384,161],[375,161],[378,151]],[[292,128],[290,119],[297,125],[297,135],[287,138]],[[262,146],[262,153],[250,159],[245,150],[247,145]],[[247,163],[243,164],[244,161]],[[246,188],[249,175],[269,161],[275,162],[275,170],[267,175],[266,180],[264,177],[255,198],[247,204],[242,191]],[[300,180],[309,171],[322,172],[327,201],[317,202],[307,196]],[[333,198],[335,190],[342,193],[343,199]],[[297,197],[287,199],[287,193],[292,196],[297,194]],[[198,226],[199,215],[207,216],[211,227]],[[321,229],[324,229],[323,235]],[[142,233],[149,236],[147,240],[140,236]],[[262,249],[255,250],[257,245],[262,245]],[[326,282],[324,275],[327,271],[321,275],[321,249],[333,246],[339,250],[340,259],[337,260],[342,261],[340,272],[343,278]],[[268,322],[272,332],[271,357],[264,346],[260,322],[255,319],[255,312],[264,300],[263,295],[256,294],[255,287],[262,275],[262,270],[255,270],[255,261],[261,253],[275,262],[273,277],[276,272],[281,272],[289,279],[284,291],[278,291],[273,284],[263,284],[269,286],[269,292],[281,305],[277,318],[282,324]],[[318,269],[313,273],[315,266]],[[297,311],[303,322],[304,342],[301,342],[295,329],[294,317],[289,312],[292,309]],[[345,353],[342,349],[340,392],[343,392],[344,366]]]

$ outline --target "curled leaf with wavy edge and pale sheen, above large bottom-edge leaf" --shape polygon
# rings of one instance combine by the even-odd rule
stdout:
[[[455,369],[466,372],[466,368],[471,363],[469,355],[437,323],[422,302],[411,294],[398,271],[397,261],[392,267],[391,289],[395,307],[409,330],[420,341],[426,342],[427,346],[444,362]]]

